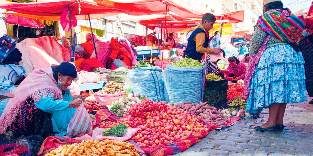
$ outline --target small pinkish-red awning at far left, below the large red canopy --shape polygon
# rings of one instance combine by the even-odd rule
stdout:
[[[20,16],[16,16],[16,15],[11,15],[8,14],[6,12],[3,13],[6,18],[7,18],[7,23],[8,24],[13,24],[13,25],[20,25],[23,27],[31,27],[31,28],[43,28],[45,27],[43,24],[41,24],[40,22],[38,22],[35,19],[31,19],[31,18],[27,18],[27,17],[20,17]]]

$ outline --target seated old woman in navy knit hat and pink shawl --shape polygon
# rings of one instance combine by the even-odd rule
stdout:
[[[17,87],[0,117],[0,134],[65,136],[81,99],[72,99],[68,87],[76,78],[75,66],[36,69]]]

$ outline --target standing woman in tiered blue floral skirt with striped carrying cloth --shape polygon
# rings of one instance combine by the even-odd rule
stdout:
[[[269,119],[258,131],[284,128],[287,103],[306,100],[304,59],[295,42],[305,28],[303,16],[294,16],[280,0],[264,0],[265,14],[259,17],[250,40],[244,95],[246,112],[260,113],[269,107]]]

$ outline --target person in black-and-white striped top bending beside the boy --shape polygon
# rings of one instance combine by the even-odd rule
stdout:
[[[223,57],[225,57],[225,52],[223,50],[222,52],[223,52]],[[217,65],[218,61],[220,61],[220,59],[218,59],[217,61],[211,61],[210,56],[207,56],[207,65],[206,65],[207,74],[213,73],[215,75],[218,75],[224,78],[225,77],[224,73],[226,73],[227,70],[218,68],[218,65]],[[205,59],[201,60],[201,63],[205,64]]]

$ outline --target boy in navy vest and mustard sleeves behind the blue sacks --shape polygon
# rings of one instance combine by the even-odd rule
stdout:
[[[222,53],[219,48],[209,48],[209,36],[208,32],[213,28],[216,18],[211,13],[206,13],[202,17],[202,24],[198,25],[198,28],[192,32],[188,38],[187,49],[184,50],[184,57],[202,60],[202,56],[205,53]]]

